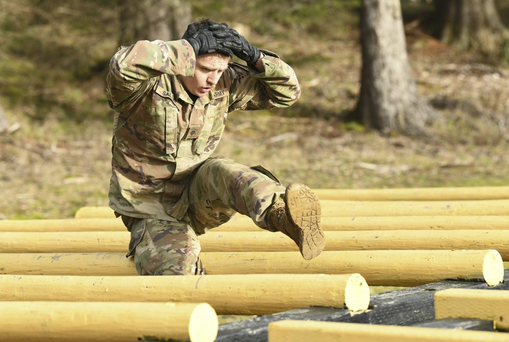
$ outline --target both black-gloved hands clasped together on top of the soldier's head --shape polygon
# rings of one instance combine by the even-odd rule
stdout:
[[[261,52],[258,48],[249,44],[236,30],[230,29],[228,24],[218,24],[209,21],[208,29],[196,31],[193,24],[187,26],[186,38],[191,44],[196,55],[209,52],[220,52],[238,58],[254,65],[260,59]]]

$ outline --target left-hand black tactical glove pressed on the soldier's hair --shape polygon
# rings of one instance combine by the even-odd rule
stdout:
[[[185,39],[191,44],[194,54],[201,55],[210,52],[221,52],[231,56],[232,50],[223,46],[221,43],[230,41],[235,38],[228,25],[218,24],[213,21],[210,22],[209,29],[196,31],[194,24],[187,26],[187,31],[184,34]]]

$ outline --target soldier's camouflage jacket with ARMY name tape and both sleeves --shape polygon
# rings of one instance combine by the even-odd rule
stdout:
[[[264,52],[265,72],[230,63],[216,86],[193,103],[177,78],[194,74],[195,55],[187,41],[139,41],[117,50],[106,89],[115,109],[112,209],[131,217],[182,218],[189,206],[187,183],[214,152],[228,113],[297,101],[293,69]]]

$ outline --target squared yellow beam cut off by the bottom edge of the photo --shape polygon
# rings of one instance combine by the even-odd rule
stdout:
[[[360,323],[278,321],[268,326],[268,342],[502,342],[503,333]]]

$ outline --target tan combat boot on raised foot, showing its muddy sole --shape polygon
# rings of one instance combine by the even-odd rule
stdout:
[[[316,194],[304,184],[292,183],[286,189],[285,202],[276,202],[269,209],[268,230],[289,236],[299,246],[302,257],[311,260],[325,247],[321,214]]]

